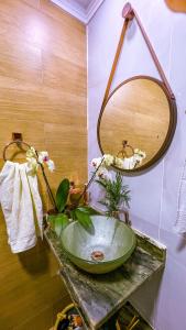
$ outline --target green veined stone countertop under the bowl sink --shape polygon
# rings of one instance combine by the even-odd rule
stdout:
[[[66,256],[61,241],[47,229],[45,238],[58,260],[66,288],[85,321],[85,328],[97,330],[124,305],[130,295],[165,265],[166,249],[135,231],[136,248],[131,257],[108,274],[88,274]]]

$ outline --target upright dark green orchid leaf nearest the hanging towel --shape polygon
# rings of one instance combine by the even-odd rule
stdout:
[[[69,194],[69,180],[67,178],[63,179],[59,184],[57,193],[56,193],[56,206],[59,212],[63,212],[65,209],[67,198]]]

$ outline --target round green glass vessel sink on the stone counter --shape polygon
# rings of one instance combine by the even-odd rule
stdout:
[[[87,231],[78,221],[62,233],[62,245],[70,261],[94,274],[109,273],[121,266],[135,248],[134,232],[123,222],[105,216],[92,216]]]

